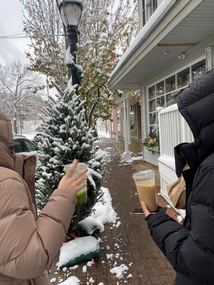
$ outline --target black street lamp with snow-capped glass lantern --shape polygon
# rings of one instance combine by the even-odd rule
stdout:
[[[60,0],[59,10],[69,38],[70,53],[76,64],[76,43],[78,25],[81,19],[83,5],[81,0]],[[72,69],[72,85],[78,84],[75,70]]]

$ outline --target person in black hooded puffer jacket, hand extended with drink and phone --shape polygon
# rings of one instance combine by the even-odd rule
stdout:
[[[183,225],[163,212],[147,224],[157,246],[177,272],[174,285],[214,285],[214,69],[193,81],[176,98],[194,135],[174,148],[176,174],[186,182]],[[188,163],[190,169],[183,171]]]

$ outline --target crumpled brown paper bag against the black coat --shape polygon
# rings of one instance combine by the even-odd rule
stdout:
[[[184,170],[188,169],[188,164],[185,165]],[[186,182],[183,175],[170,184],[167,184],[168,196],[176,209],[186,209]]]

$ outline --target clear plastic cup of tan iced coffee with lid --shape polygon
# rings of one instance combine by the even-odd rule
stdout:
[[[157,210],[155,173],[153,170],[135,172],[132,176],[140,202],[144,202],[150,212]]]

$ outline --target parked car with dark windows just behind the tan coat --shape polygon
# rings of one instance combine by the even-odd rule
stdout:
[[[21,135],[13,136],[15,153],[25,153],[38,150],[38,147],[29,139]]]

